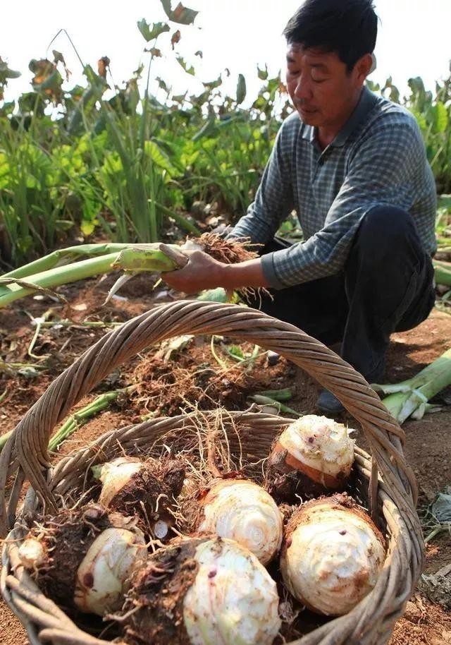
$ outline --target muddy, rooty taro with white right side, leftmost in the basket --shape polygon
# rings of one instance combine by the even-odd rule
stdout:
[[[147,550],[135,519],[90,504],[44,517],[20,545],[19,557],[53,601],[103,616],[121,608]]]

